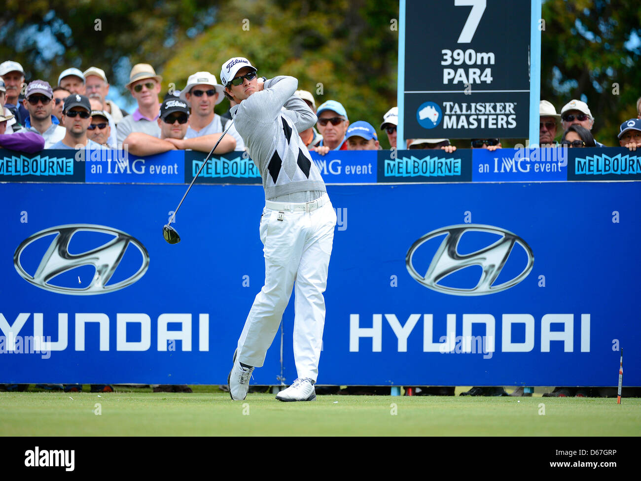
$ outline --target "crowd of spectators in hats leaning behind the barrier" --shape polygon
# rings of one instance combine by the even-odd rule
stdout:
[[[214,112],[224,100],[224,86],[210,72],[196,72],[180,90],[168,92],[160,102],[162,77],[147,63],[133,66],[126,88],[137,102],[133,113],[106,99],[110,85],[103,69],[89,67],[63,70],[56,86],[35,79],[25,83],[25,73],[17,61],[0,63],[0,147],[33,153],[42,149],[114,149],[127,145],[138,156],[171,150],[192,149],[209,152],[222,132],[229,127],[216,154],[244,151],[229,111]],[[299,132],[310,151],[325,155],[329,151],[379,150],[377,129],[365,120],[350,123],[343,104],[328,100],[317,108],[313,95],[297,90],[317,115],[316,127]],[[230,108],[233,101],[230,101]],[[634,151],[641,147],[641,98],[637,118],[620,125],[618,143]],[[539,106],[541,147],[605,147],[592,135],[594,117],[587,103],[572,99],[560,113],[551,102]],[[383,115],[379,131],[387,135],[390,147],[397,146],[398,109]],[[12,136],[13,134],[19,134]],[[42,144],[42,145],[41,145]],[[446,138],[406,139],[406,149],[456,150]],[[472,149],[501,149],[498,138],[475,138]]]

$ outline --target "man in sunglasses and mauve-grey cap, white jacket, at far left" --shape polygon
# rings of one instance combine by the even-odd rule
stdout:
[[[51,149],[67,133],[58,125],[58,118],[51,114],[54,106],[51,85],[44,80],[34,80],[27,85],[25,97],[22,104],[29,115],[24,120],[24,127],[17,132],[37,133],[44,138],[44,148]]]

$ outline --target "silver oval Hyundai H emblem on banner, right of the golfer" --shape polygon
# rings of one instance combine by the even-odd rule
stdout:
[[[458,254],[457,249],[465,232],[489,232],[490,234],[497,234],[501,236],[501,238],[491,245],[488,245],[488,247],[472,252],[471,254],[461,255]],[[444,234],[445,238],[440,244],[437,253],[432,258],[431,263],[429,263],[426,274],[421,275],[412,263],[414,253],[423,243]],[[497,280],[497,277],[499,277],[508,257],[512,254],[515,244],[519,244],[525,250],[528,256],[527,264],[522,272],[512,280],[494,286],[493,284]],[[419,240],[415,241],[405,256],[405,263],[410,275],[426,288],[458,296],[481,296],[501,292],[519,284],[532,270],[534,254],[524,240],[510,231],[506,231],[500,227],[494,227],[493,225],[459,224],[428,232]],[[447,277],[447,275],[468,266],[481,266],[482,268],[481,277],[474,288],[462,289],[438,284],[438,282]]]

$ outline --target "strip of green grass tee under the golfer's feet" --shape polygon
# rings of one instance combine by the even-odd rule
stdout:
[[[149,391],[147,389],[147,391]],[[210,389],[212,391],[212,389]],[[0,393],[0,436],[638,436],[641,398]],[[102,414],[94,411],[101,404]],[[395,409],[397,414],[393,415]],[[545,415],[540,415],[545,404]],[[248,414],[244,414],[244,412]]]

